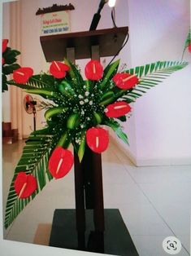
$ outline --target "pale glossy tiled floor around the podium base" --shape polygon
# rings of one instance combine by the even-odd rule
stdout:
[[[3,206],[22,142],[3,145]],[[119,208],[140,256],[168,255],[163,239],[182,242],[189,255],[191,166],[135,167],[115,143],[102,154],[105,208]],[[74,208],[73,170],[54,180],[4,231],[8,240],[47,245],[54,209]],[[128,256],[128,255],[127,255]]]

